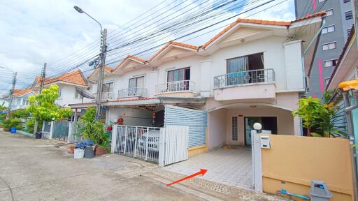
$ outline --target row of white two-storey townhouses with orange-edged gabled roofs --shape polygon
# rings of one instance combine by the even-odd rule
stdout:
[[[305,91],[324,15],[292,22],[238,19],[204,45],[171,42],[148,61],[128,56],[105,70],[106,123],[186,125],[189,149],[196,151],[250,145],[255,122],[274,134],[301,135],[292,111]],[[95,70],[90,82],[97,76]]]

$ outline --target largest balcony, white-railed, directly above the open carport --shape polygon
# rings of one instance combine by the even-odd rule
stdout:
[[[275,91],[273,69],[246,70],[214,77],[216,101],[275,99]]]

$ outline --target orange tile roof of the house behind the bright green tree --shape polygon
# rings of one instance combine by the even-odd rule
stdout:
[[[58,77],[45,79],[45,84],[51,84],[53,82],[69,82],[72,84],[87,86],[85,77],[83,77],[82,72],[79,69],[73,70],[69,73],[64,73]]]

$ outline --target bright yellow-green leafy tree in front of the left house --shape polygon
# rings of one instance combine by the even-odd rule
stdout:
[[[57,98],[59,98],[59,87],[54,84],[48,89],[43,89],[41,94],[29,96],[30,104],[26,109],[38,121],[68,119],[72,114],[71,108],[56,105]]]

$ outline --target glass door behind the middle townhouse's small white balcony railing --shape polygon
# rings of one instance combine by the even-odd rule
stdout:
[[[168,91],[189,90],[190,68],[180,68],[168,71]]]

